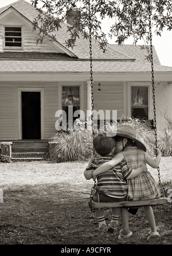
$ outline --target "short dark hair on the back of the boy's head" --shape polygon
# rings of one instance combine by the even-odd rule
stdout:
[[[115,148],[115,140],[112,137],[107,137],[105,133],[100,133],[94,138],[93,146],[99,155],[105,156]]]

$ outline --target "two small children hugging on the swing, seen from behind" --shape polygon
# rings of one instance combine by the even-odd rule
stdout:
[[[146,163],[153,168],[159,166],[161,151],[156,148],[155,159],[148,156],[142,142],[136,140],[135,130],[129,125],[117,128],[115,137],[107,137],[100,133],[93,140],[93,146],[100,158],[93,158],[84,171],[86,179],[97,177],[97,193],[94,201],[119,202],[127,200],[145,200],[160,196],[160,192],[153,176],[147,171]],[[114,150],[117,153],[114,156]],[[155,224],[154,213],[151,206],[144,206],[151,231],[147,240],[155,240],[159,234]],[[117,229],[119,215],[122,219],[123,229],[119,239],[127,239],[132,235],[128,226],[128,211],[126,208],[112,208],[112,219],[107,227],[104,220],[104,210],[96,209],[100,231],[114,232]]]

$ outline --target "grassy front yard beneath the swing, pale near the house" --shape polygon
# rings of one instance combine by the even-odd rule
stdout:
[[[171,186],[172,157],[162,157],[162,183]],[[0,244],[120,244],[118,234],[101,234],[95,213],[88,207],[92,180],[85,180],[86,162],[21,162],[0,164],[3,202]],[[158,182],[157,170],[149,171]],[[161,235],[152,244],[171,244],[171,205],[154,206]],[[105,210],[107,224],[111,210]],[[125,244],[148,244],[148,226],[143,209],[130,214],[133,235]],[[150,244],[150,243],[149,243]]]

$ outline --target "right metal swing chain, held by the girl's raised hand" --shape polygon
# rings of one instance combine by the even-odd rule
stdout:
[[[151,6],[150,1],[148,1],[148,16],[149,16],[149,34],[150,34],[150,52],[151,52],[151,75],[152,75],[152,88],[153,88],[153,107],[154,107],[154,131],[155,131],[155,146],[158,148],[158,140],[157,140],[157,116],[156,116],[156,108],[155,108],[155,82],[154,82],[154,60],[153,60],[153,35],[152,35],[152,26],[151,26]],[[158,178],[159,185],[161,185],[163,193],[165,193],[165,188],[161,183],[161,175],[159,167],[158,170]]]

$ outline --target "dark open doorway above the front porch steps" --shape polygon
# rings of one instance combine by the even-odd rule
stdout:
[[[41,139],[40,92],[22,92],[22,139]]]

